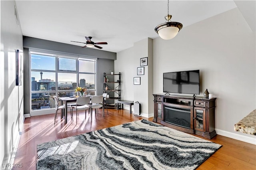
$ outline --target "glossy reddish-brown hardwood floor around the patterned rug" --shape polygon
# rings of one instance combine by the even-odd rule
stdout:
[[[140,119],[146,119],[149,121],[153,120],[153,118],[135,117],[134,115],[131,115],[128,110],[117,111],[116,109],[108,109],[109,115],[105,114],[104,118],[102,117],[102,109],[99,109],[98,116],[94,115],[93,112],[92,118],[87,112],[86,119],[84,119],[84,111],[78,111],[78,122],[76,125],[75,113],[76,112],[74,112],[74,122],[71,121],[70,113],[68,113],[67,124],[64,124],[64,120],[60,119],[60,114],[58,114],[55,126],[54,114],[26,118],[24,121],[24,127],[20,137],[16,157],[14,159],[15,164],[22,164],[23,167],[13,169],[36,169],[37,144],[91,132],[93,130],[121,125]],[[256,169],[256,145],[220,135],[217,135],[211,141],[222,144],[222,148],[203,162],[198,167],[198,170]]]

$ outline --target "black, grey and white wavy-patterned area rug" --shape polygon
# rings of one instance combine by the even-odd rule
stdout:
[[[191,170],[220,144],[146,120],[38,144],[37,170]]]

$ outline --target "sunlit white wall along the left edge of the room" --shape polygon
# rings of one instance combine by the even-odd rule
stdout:
[[[1,1],[0,161],[12,163],[19,128],[23,125],[23,80],[16,86],[15,51],[23,50],[22,31],[14,17],[15,1]],[[23,61],[22,61],[23,63]],[[23,66],[22,66],[23,77]],[[20,117],[19,117],[20,113]],[[1,169],[4,167],[1,166]]]

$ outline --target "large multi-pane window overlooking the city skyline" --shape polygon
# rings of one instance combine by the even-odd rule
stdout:
[[[77,95],[77,86],[86,87],[86,95],[95,95],[96,60],[30,52],[31,110],[55,108],[52,98]]]

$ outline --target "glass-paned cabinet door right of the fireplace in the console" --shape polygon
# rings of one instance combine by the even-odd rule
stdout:
[[[194,129],[202,132],[206,131],[205,109],[194,107]]]

